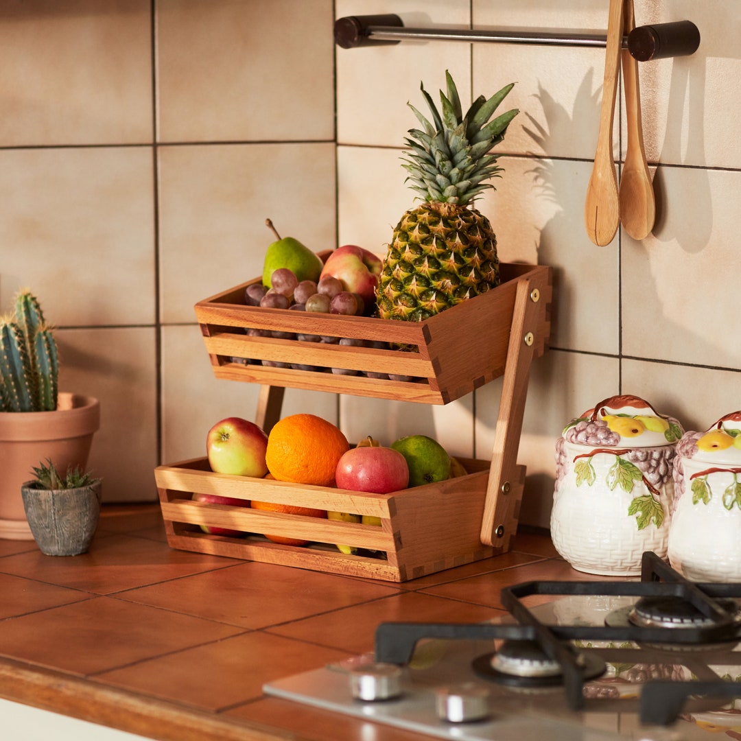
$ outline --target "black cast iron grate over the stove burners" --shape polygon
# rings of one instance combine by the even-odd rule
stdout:
[[[688,605],[692,620],[681,625],[544,625],[522,603],[533,595],[602,595],[609,597],[671,598]],[[416,623],[385,622],[375,636],[378,662],[405,665],[411,660],[416,642],[424,638],[534,642],[542,654],[560,668],[568,706],[579,711],[584,707],[584,683],[595,676],[594,661],[588,649],[577,648],[572,641],[636,642],[639,645],[721,645],[741,640],[741,621],[737,609],[728,600],[741,597],[740,584],[693,583],[674,571],[651,551],[642,557],[639,582],[523,582],[502,589],[502,605],[516,619],[517,625],[491,623]],[[640,601],[640,600],[639,600]],[[735,604],[735,603],[734,603]],[[479,676],[482,665],[491,665],[491,656],[476,659],[474,671]],[[493,672],[494,679],[501,679]],[[643,723],[668,725],[677,720],[689,697],[717,697],[723,700],[741,694],[741,682],[726,682],[705,666],[704,677],[710,679],[671,682],[648,679],[642,686],[639,712]],[[511,682],[516,684],[516,682]]]

